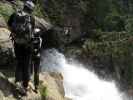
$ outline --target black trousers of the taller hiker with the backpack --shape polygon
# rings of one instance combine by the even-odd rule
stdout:
[[[25,45],[14,44],[14,51],[17,60],[15,80],[22,81],[23,86],[27,87],[31,71],[31,49]]]

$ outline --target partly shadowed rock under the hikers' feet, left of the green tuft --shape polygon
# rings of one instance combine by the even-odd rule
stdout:
[[[41,95],[34,93],[33,91],[28,92],[28,96],[20,97],[19,93],[15,91],[14,79],[9,79],[0,72],[0,100],[41,100]]]

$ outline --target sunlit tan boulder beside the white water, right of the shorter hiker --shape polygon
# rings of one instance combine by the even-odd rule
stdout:
[[[60,73],[44,72],[40,75],[42,85],[47,87],[46,100],[65,100],[63,78]]]

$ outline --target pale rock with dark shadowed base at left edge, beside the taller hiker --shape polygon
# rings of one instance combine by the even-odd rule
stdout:
[[[14,63],[13,45],[9,38],[10,31],[6,28],[0,28],[0,66],[7,68]],[[5,67],[6,66],[6,67]]]

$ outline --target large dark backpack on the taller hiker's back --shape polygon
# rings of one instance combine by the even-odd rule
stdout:
[[[31,16],[19,11],[15,14],[12,28],[12,40],[17,44],[28,45],[32,39]]]

